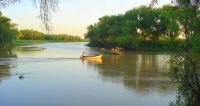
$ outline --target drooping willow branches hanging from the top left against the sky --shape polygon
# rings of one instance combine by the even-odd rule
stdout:
[[[16,2],[22,0],[0,0],[0,7],[6,8]],[[42,20],[44,28],[47,32],[52,30],[51,16],[58,9],[59,0],[32,0],[35,7],[39,7],[39,18]]]

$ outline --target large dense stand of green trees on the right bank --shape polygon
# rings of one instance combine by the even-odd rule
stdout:
[[[177,50],[190,46],[178,40],[179,36],[186,41],[199,37],[199,25],[198,6],[140,6],[125,14],[101,17],[87,28],[87,37],[91,46]]]

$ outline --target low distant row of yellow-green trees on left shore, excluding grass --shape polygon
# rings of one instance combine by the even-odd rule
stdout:
[[[34,30],[20,30],[19,40],[61,40],[61,41],[81,41],[79,36],[67,34],[44,34]]]

